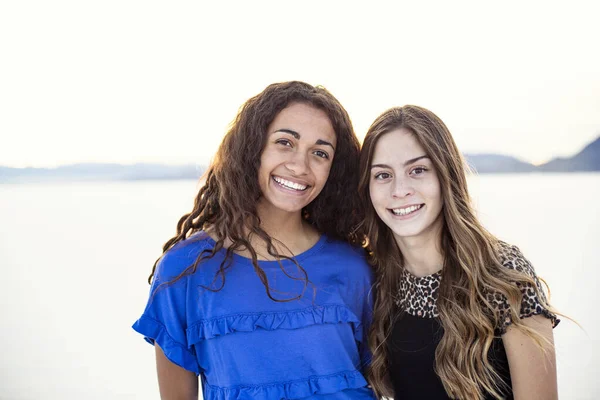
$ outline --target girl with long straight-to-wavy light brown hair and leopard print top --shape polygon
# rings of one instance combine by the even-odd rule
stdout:
[[[359,193],[375,266],[370,382],[400,399],[555,399],[558,320],[533,267],[478,221],[446,125],[416,106],[365,137]]]

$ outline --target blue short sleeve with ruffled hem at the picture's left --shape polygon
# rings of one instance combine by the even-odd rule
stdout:
[[[188,277],[169,283],[188,266],[189,259],[179,258],[176,253],[165,254],[157,264],[148,303],[133,329],[148,343],[157,343],[172,363],[199,375],[194,348],[186,338]]]

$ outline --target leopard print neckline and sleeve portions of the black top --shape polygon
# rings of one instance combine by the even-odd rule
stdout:
[[[540,293],[544,303],[547,303],[542,286],[535,274],[533,266],[523,256],[519,248],[504,242],[500,242],[499,255],[503,266],[517,270],[532,277],[536,282],[538,292]],[[402,273],[402,282],[400,283],[400,290],[398,296],[396,297],[396,304],[400,308],[403,308],[404,311],[410,315],[421,318],[437,318],[439,313],[436,302],[441,279],[441,271],[438,271],[432,275],[416,277],[404,269]],[[521,318],[542,314],[552,321],[553,327],[560,322],[560,320],[556,318],[555,314],[551,313],[541,305],[538,295],[531,285],[524,285],[519,282],[516,284],[521,289],[521,293],[523,295],[520,311]],[[509,313],[510,306],[508,304],[508,300],[500,293],[488,294],[488,300],[497,307],[496,311],[499,314],[498,320],[502,322],[500,323],[500,326],[497,327],[496,333],[502,335],[506,332],[506,328],[512,322]]]

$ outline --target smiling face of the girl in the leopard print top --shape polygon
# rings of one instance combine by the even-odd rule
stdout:
[[[373,208],[396,241],[436,239],[443,222],[440,182],[414,134],[404,128],[385,133],[370,167]]]

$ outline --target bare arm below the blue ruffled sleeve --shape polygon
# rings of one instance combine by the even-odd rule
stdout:
[[[173,364],[155,343],[156,371],[162,400],[198,400],[198,377]]]

